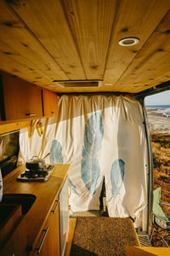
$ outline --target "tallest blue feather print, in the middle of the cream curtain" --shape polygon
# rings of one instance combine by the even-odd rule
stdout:
[[[82,181],[89,193],[94,195],[99,179],[99,153],[104,135],[100,113],[94,113],[85,126],[84,146],[82,146]]]

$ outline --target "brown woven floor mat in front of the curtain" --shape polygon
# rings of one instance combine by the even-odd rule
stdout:
[[[130,218],[78,217],[70,256],[122,256],[139,246]]]

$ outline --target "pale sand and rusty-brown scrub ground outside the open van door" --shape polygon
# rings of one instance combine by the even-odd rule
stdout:
[[[159,112],[159,111],[158,111]],[[153,152],[154,189],[161,187],[161,201],[170,201],[170,117],[162,116],[157,109],[147,109]],[[170,207],[162,207],[170,216]],[[167,235],[167,231],[164,235]],[[166,247],[154,233],[152,243],[155,247]],[[158,242],[156,242],[158,241]],[[170,240],[167,239],[170,244]]]

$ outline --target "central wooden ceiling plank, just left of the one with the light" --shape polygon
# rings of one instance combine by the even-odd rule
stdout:
[[[116,0],[61,0],[87,79],[103,79]]]

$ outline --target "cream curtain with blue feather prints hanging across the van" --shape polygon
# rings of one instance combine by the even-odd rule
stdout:
[[[139,102],[133,96],[60,96],[59,116],[53,119],[51,125],[50,119],[43,121],[42,137],[32,132],[27,140],[20,133],[20,158],[42,158],[50,151],[51,163],[71,164],[72,212],[99,210],[105,177],[109,216],[130,216],[146,230],[147,157]]]

